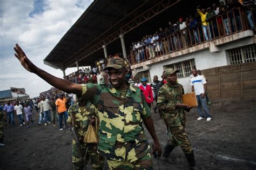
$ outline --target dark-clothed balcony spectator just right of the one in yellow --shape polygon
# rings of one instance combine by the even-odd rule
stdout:
[[[209,30],[210,30],[210,35],[211,38],[215,38],[218,36],[218,30],[217,30],[217,22],[216,19],[214,18],[216,15],[216,13],[214,12],[214,10],[212,10],[211,7],[207,8],[207,15],[206,15],[206,21],[209,23]]]

